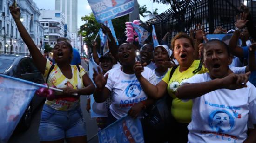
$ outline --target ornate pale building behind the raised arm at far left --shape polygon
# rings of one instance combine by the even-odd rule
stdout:
[[[21,39],[9,10],[13,2],[14,0],[0,0],[0,53],[29,55],[27,45]],[[33,0],[19,0],[17,6],[20,7],[20,20],[34,43],[43,52],[44,28],[39,22],[41,13],[38,7]]]

